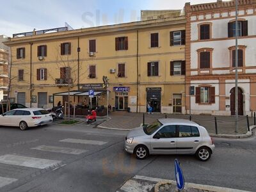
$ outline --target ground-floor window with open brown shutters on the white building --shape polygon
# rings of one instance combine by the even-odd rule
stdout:
[[[214,86],[196,87],[196,103],[201,103],[201,104],[215,103],[215,87]]]

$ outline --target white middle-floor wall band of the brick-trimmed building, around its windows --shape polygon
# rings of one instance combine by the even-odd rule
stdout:
[[[255,18],[256,19],[256,18]],[[256,32],[256,29],[255,29]],[[256,37],[243,38],[238,40],[239,45],[245,45],[245,66],[256,66]],[[230,51],[228,47],[235,45],[234,40],[220,40],[211,42],[194,42],[191,43],[191,68],[198,67],[197,49],[210,47],[212,51],[212,67],[230,67]],[[221,74],[223,74],[221,72]]]

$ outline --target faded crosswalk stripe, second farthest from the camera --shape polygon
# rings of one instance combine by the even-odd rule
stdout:
[[[83,150],[79,148],[57,147],[57,146],[51,146],[51,145],[40,145],[38,147],[34,147],[31,149],[42,150],[46,152],[56,152],[61,154],[73,154],[73,155],[83,154],[84,152],[88,151],[88,150]]]

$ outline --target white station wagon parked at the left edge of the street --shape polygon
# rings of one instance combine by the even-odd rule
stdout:
[[[20,127],[21,130],[51,122],[51,114],[41,108],[13,109],[0,115],[0,125]]]

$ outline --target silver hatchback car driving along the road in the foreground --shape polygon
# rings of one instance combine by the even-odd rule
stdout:
[[[207,161],[214,147],[204,127],[184,119],[159,119],[132,129],[125,137],[125,151],[138,159],[149,154],[195,154]]]

